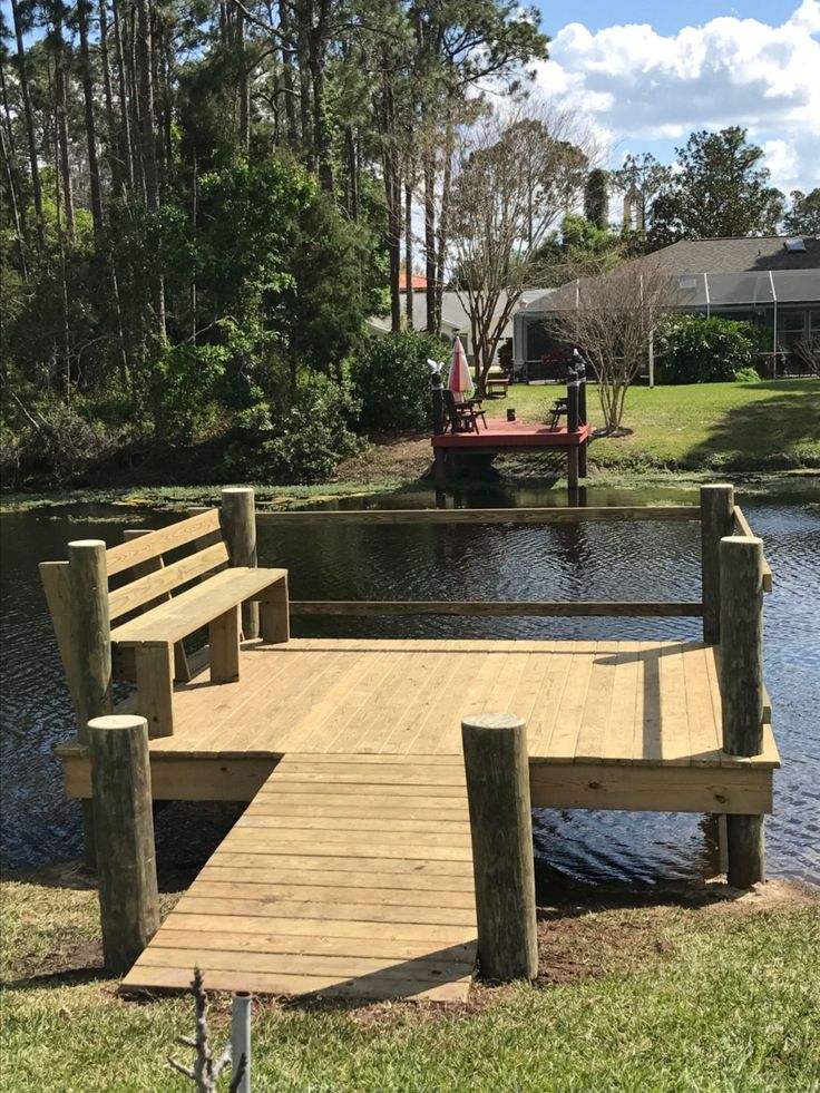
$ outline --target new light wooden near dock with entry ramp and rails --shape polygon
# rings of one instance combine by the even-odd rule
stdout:
[[[744,519],[732,508],[728,514]],[[270,519],[346,523],[369,515]],[[700,516],[696,508],[635,510],[636,519]],[[624,519],[627,513],[372,517],[384,525],[521,524]],[[709,531],[705,507],[703,520]],[[168,530],[163,535],[166,543]],[[731,541],[743,549],[760,545],[750,536]],[[721,619],[729,624],[725,611],[715,614],[710,543],[704,533],[702,602],[315,602],[292,603],[290,612],[689,614],[703,615],[710,633]],[[755,603],[767,585],[771,572],[760,560],[750,585]],[[153,591],[149,583],[141,594]],[[276,611],[282,603],[289,607],[282,601]],[[482,714],[506,712],[526,722],[533,808],[724,814],[730,846],[734,831],[740,848],[738,870],[753,880],[762,869],[762,817],[772,810],[779,765],[771,710],[755,676],[760,705],[751,721],[743,715],[752,728],[756,720],[755,735],[728,754],[726,671],[714,642],[294,638],[286,617],[276,617],[280,640],[243,642],[235,679],[225,680],[224,667],[214,673],[213,665],[192,664],[191,679],[165,703],[173,723],[158,726],[165,734],[148,742],[145,778],[149,764],[155,799],[250,803],[153,939],[138,945],[125,989],[185,988],[198,966],[214,989],[466,999],[478,930],[461,724]],[[168,634],[176,641],[177,630]],[[224,656],[231,650],[221,641]],[[740,680],[732,671],[730,681]],[[736,720],[740,700],[731,693],[730,700]],[[143,713],[139,701],[138,691],[120,711]],[[86,739],[80,733],[58,751],[68,796],[88,801],[94,771]],[[526,765],[523,773],[526,782]]]

